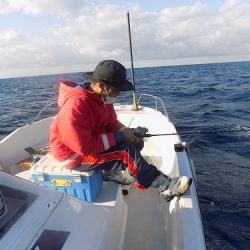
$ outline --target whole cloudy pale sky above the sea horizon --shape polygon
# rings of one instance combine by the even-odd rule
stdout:
[[[0,78],[250,61],[250,0],[0,0]]]

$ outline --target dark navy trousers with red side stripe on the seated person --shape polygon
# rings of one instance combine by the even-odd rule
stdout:
[[[139,147],[139,149],[138,149]],[[139,189],[148,188],[154,179],[159,175],[158,169],[148,164],[140,153],[142,145],[133,143],[118,144],[103,153],[87,157],[86,162],[77,166],[77,170],[125,170],[128,168],[129,173],[134,176],[139,185]]]

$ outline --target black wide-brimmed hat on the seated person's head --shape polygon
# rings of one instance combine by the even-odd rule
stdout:
[[[93,72],[84,73],[84,75],[92,81],[110,85],[118,91],[134,90],[133,84],[126,79],[126,69],[114,60],[101,61]]]

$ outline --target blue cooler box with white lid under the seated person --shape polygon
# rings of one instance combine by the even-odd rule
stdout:
[[[80,172],[67,169],[51,153],[30,169],[33,182],[93,202],[102,188],[102,171]]]

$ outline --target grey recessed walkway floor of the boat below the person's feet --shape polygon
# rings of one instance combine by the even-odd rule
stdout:
[[[125,200],[128,204],[124,250],[167,249],[167,228],[159,194],[153,190],[141,192],[134,186]]]

